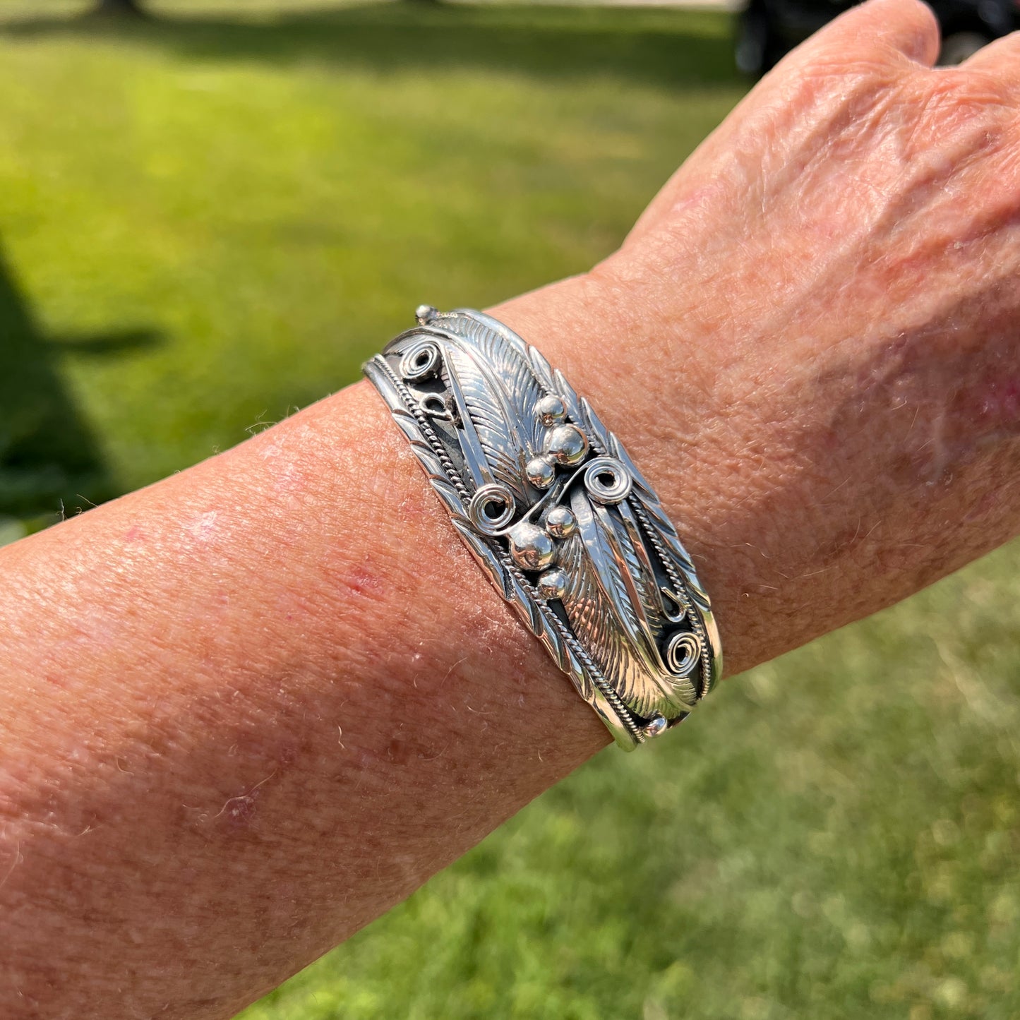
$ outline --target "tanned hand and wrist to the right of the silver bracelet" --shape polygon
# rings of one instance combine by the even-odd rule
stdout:
[[[549,292],[601,345],[546,292],[497,311],[648,465],[731,670],[1017,530],[1020,38],[937,52],[927,7],[871,0],[792,53]]]

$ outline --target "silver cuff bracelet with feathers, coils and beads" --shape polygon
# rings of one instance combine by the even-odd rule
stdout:
[[[560,371],[422,306],[364,366],[467,548],[626,750],[722,671],[705,590],[652,487]]]

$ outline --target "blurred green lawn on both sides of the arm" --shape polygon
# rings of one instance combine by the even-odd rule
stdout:
[[[81,6],[0,0],[8,538],[353,379],[421,300],[586,268],[743,91],[717,14]],[[1017,1017],[1016,558],[600,756],[246,1020]]]

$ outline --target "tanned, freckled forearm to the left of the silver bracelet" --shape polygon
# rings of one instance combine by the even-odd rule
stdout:
[[[228,1015],[605,741],[365,386],[0,567],[7,1015]]]

